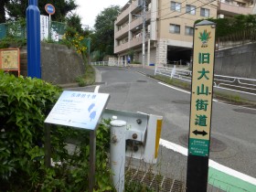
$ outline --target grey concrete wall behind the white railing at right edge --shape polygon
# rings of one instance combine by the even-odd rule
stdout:
[[[256,78],[256,43],[225,48],[215,53],[215,74]]]

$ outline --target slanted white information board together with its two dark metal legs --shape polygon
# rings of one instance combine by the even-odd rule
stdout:
[[[109,94],[83,91],[63,91],[45,123],[60,124],[69,127],[90,130],[90,173],[89,191],[95,184],[96,128],[109,101]],[[49,125],[45,126],[45,164],[50,166]]]

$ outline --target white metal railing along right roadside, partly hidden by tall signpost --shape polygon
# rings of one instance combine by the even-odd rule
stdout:
[[[155,66],[155,75],[164,75],[171,79],[191,81],[192,71],[186,69],[167,68]],[[256,80],[248,78],[239,78],[224,75],[214,75],[214,87],[227,90],[239,91],[245,94],[256,96]]]

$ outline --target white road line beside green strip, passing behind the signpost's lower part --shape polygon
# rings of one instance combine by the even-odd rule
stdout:
[[[187,156],[188,151],[187,151],[186,147],[168,142],[164,139],[160,139],[160,144],[162,146],[165,146],[165,148],[167,148],[167,149],[171,149],[179,154]],[[229,168],[228,166],[220,165],[219,163],[217,163],[213,160],[210,160],[210,159],[209,159],[208,165],[212,168],[219,170],[220,172],[228,174],[229,176],[235,176],[237,178],[240,178],[243,181],[251,183],[252,185],[256,185],[256,178],[242,174],[234,169]]]

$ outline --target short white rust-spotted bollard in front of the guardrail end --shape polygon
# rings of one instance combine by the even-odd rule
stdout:
[[[126,122],[122,120],[111,122],[112,182],[118,192],[124,191],[125,133]]]

